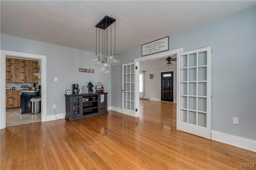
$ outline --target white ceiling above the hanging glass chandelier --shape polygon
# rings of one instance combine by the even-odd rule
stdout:
[[[255,1],[4,1],[1,33],[95,52],[95,25],[116,19],[116,53],[255,7]]]

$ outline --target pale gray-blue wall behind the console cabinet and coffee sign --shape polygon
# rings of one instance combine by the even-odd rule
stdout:
[[[82,92],[82,86],[87,86],[90,81],[94,85],[104,83],[105,92],[108,92],[108,106],[111,106],[111,76],[99,72],[99,67],[92,62],[94,53],[4,34],[1,34],[1,50],[46,56],[46,115],[54,114],[54,104],[56,114],[66,113],[66,89],[72,90],[72,84],[78,84]],[[78,68],[94,69],[95,73],[78,72]],[[55,77],[58,78],[57,82],[54,82]],[[1,81],[4,79],[1,78]]]

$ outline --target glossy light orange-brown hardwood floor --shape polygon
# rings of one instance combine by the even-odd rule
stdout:
[[[140,101],[140,117],[109,111],[1,129],[1,170],[255,169],[256,153],[176,130],[176,105]]]

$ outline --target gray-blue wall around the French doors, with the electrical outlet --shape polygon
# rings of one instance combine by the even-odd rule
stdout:
[[[212,130],[256,140],[255,8],[169,36],[169,49],[212,47]],[[153,40],[152,40],[153,41]],[[147,42],[145,42],[147,43]],[[141,56],[141,46],[118,54],[112,67],[112,106],[122,108],[121,64]],[[239,125],[232,124],[239,118]]]

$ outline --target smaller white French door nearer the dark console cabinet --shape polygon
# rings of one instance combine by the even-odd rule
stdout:
[[[139,74],[139,63],[122,64],[122,113],[133,117],[139,114],[139,86],[135,82]]]

